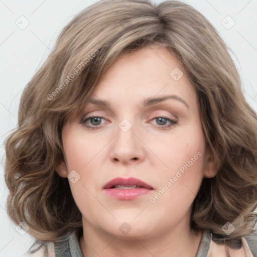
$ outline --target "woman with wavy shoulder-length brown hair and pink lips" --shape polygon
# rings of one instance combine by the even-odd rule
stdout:
[[[26,256],[256,255],[256,128],[226,45],[195,9],[83,10],[6,142],[9,215],[39,242]]]

